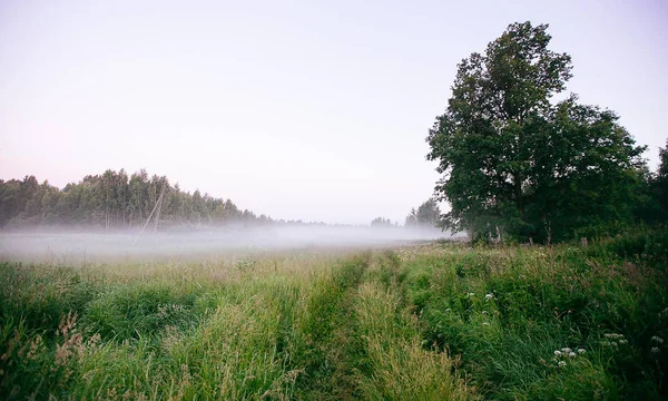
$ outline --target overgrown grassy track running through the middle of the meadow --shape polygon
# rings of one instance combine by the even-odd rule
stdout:
[[[414,316],[402,305],[394,253],[365,254],[314,297],[315,335],[307,341],[304,400],[466,400],[444,352],[425,351]],[[333,294],[336,294],[333,296]]]

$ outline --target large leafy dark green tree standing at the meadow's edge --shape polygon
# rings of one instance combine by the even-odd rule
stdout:
[[[498,226],[551,241],[629,215],[645,147],[615,113],[574,95],[553,101],[571,78],[571,58],[548,48],[547,29],[513,23],[458,66],[448,109],[426,138],[453,231]]]

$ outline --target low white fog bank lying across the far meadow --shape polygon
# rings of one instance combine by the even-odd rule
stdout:
[[[230,252],[363,248],[455,238],[436,228],[283,226],[209,228],[185,233],[48,232],[0,233],[0,260],[86,263],[206,258]]]

